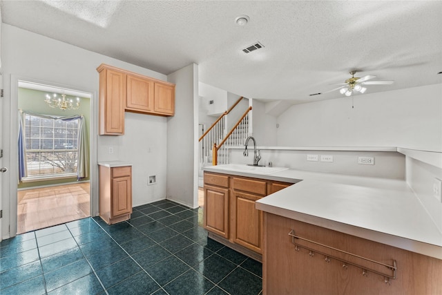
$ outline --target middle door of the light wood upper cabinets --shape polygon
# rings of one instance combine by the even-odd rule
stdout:
[[[150,79],[128,75],[126,110],[152,112],[154,84]]]

